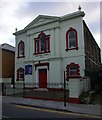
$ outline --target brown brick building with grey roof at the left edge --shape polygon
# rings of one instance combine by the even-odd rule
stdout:
[[[12,83],[14,80],[15,47],[0,45],[0,83]]]

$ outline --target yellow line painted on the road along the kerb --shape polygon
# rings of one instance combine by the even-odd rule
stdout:
[[[64,115],[74,115],[74,116],[81,116],[81,117],[83,116],[83,117],[102,119],[101,116],[96,116],[96,115],[86,115],[86,114],[80,114],[80,113],[74,113],[74,112],[73,113],[72,112],[64,112],[64,111],[50,110],[50,109],[46,109],[46,108],[36,108],[36,107],[30,107],[30,106],[24,106],[24,105],[16,105],[16,107],[44,111],[44,112],[58,113],[58,114],[64,114]]]

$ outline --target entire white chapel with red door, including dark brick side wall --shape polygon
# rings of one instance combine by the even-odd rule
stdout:
[[[69,102],[90,89],[87,71],[101,64],[100,48],[81,10],[61,17],[39,15],[16,40],[15,82],[25,87],[63,89],[64,71]]]

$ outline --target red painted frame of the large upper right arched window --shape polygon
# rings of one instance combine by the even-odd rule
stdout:
[[[72,32],[74,31],[76,33],[76,47],[73,47],[73,48],[69,48],[69,38],[68,38],[68,34],[69,32]],[[66,32],[66,51],[68,50],[78,50],[78,33],[77,31],[74,29],[74,28],[70,28],[67,32]]]

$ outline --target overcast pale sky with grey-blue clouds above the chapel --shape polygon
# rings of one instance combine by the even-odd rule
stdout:
[[[26,2],[25,2],[26,1]],[[63,16],[78,11],[80,5],[85,12],[83,18],[96,42],[100,46],[100,0],[2,0],[0,2],[0,44],[15,46],[15,28],[23,29],[39,14]],[[56,1],[56,2],[54,2]],[[75,2],[79,1],[79,2]]]

